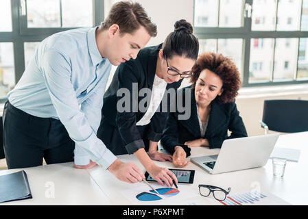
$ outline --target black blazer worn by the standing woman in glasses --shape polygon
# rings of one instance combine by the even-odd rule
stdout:
[[[104,94],[104,106],[102,107],[102,120],[101,125],[104,122],[109,123],[113,127],[117,127],[123,145],[126,146],[128,153],[134,153],[140,148],[144,148],[143,138],[139,129],[137,129],[136,123],[143,117],[145,112],[140,112],[134,105],[139,105],[140,101],[145,96],[139,96],[136,91],[133,92],[133,83],[138,84],[138,93],[142,88],[150,88],[152,90],[158,52],[161,49],[162,44],[154,47],[146,47],[139,51],[136,60],[130,60],[126,63],[119,65],[115,71],[115,75],[112,82]],[[168,83],[166,90],[171,88],[178,89],[180,87],[180,81],[174,83]],[[117,97],[117,91],[121,88],[126,88],[130,91],[130,112],[118,112],[117,101],[122,96]],[[151,98],[148,97],[148,98]],[[148,105],[147,105],[148,107]],[[138,108],[138,107],[137,107]],[[160,105],[160,110],[162,104]],[[158,142],[163,134],[165,123],[167,122],[167,112],[155,112],[151,118],[151,123],[147,128],[147,139],[154,142]],[[104,134],[104,133],[103,133]],[[108,146],[108,145],[107,145]],[[110,147],[110,146],[108,146]],[[112,147],[112,146],[111,146]]]

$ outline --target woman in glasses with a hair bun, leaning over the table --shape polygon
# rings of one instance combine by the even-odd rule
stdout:
[[[141,49],[134,60],[122,63],[104,94],[97,137],[115,155],[134,154],[161,185],[171,186],[177,179],[153,162],[172,161],[171,155],[157,151],[168,112],[156,110],[162,108],[166,90],[177,90],[184,77],[191,77],[199,50],[192,32],[190,23],[177,21],[165,42]]]

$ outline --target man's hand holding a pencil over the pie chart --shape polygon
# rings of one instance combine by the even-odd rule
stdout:
[[[108,170],[117,177],[117,179],[126,183],[138,183],[145,179],[143,172],[134,163],[123,163],[116,159],[109,167]]]

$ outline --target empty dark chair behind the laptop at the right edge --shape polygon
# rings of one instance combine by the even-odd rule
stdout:
[[[285,133],[308,131],[308,101],[265,100],[261,127]]]

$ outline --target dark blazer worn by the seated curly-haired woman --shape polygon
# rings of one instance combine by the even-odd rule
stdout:
[[[191,116],[187,120],[178,120],[180,114],[178,110],[171,112],[167,118],[161,144],[172,154],[175,146],[182,146],[189,156],[190,149],[184,143],[201,138],[201,133],[194,95],[195,90],[189,86],[178,90],[178,92],[182,92],[184,99],[186,89],[191,90]],[[185,103],[184,100],[183,103]],[[232,132],[230,136],[228,136],[228,129]],[[237,105],[235,103],[218,103],[217,99],[214,99],[211,103],[209,123],[204,136],[209,141],[209,148],[220,148],[222,142],[226,139],[246,136],[246,128],[241,116],[239,116]]]

